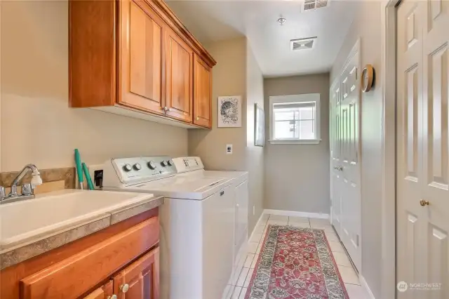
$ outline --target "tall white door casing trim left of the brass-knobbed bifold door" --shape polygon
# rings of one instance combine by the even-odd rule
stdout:
[[[396,6],[382,1],[381,298],[396,298]],[[394,227],[394,230],[391,228]]]

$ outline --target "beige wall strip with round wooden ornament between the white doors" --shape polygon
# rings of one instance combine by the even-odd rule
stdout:
[[[381,198],[382,198],[382,69],[381,69],[381,1],[361,1],[349,33],[337,55],[331,82],[361,38],[361,65],[370,63],[376,71],[376,86],[362,93],[361,100],[361,239],[362,269],[375,298],[381,290]]]

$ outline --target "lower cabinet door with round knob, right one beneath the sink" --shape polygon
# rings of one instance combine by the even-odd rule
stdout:
[[[118,299],[159,299],[159,247],[113,277]]]

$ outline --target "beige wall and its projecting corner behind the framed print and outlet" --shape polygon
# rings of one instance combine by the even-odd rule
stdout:
[[[262,73],[246,38],[217,41],[207,46],[217,65],[213,68],[213,127],[189,130],[189,155],[200,156],[206,169],[249,172],[249,230],[262,213],[263,148],[254,146],[254,104],[263,101]],[[241,128],[217,128],[217,98],[242,96]],[[233,154],[226,154],[226,145]],[[253,215],[255,206],[255,215]]]

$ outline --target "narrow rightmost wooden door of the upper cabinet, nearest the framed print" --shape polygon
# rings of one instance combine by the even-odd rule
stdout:
[[[194,55],[194,124],[212,126],[212,69]]]

